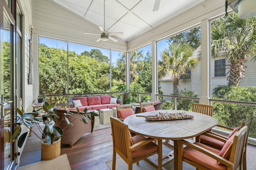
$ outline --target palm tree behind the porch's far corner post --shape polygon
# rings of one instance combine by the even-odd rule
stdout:
[[[137,74],[138,70],[141,70],[144,66],[144,63],[141,59],[143,59],[143,51],[142,50],[135,50],[130,52],[130,83],[134,80],[135,75]],[[120,54],[120,58],[118,59],[117,65],[122,71],[123,75],[125,76],[125,61],[126,61],[125,53]]]

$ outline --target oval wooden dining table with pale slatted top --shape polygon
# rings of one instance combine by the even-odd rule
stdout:
[[[186,113],[194,116],[191,119],[148,121],[145,117],[137,115],[156,115],[158,113]],[[130,131],[153,139],[166,139],[174,142],[174,170],[177,167],[177,140],[196,137],[218,125],[214,117],[202,113],[183,110],[156,110],[130,115],[124,119]]]

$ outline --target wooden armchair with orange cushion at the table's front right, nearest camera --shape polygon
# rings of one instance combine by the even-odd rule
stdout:
[[[178,140],[178,170],[182,170],[183,161],[200,170],[240,170],[247,130],[248,127],[244,126],[234,133],[222,150],[202,143]],[[183,145],[186,147],[183,148]]]

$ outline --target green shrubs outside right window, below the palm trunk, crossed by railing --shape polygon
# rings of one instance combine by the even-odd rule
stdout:
[[[220,100],[256,102],[256,86],[218,86],[214,88],[212,98]],[[213,116],[220,125],[236,127],[248,117],[252,117],[250,137],[256,138],[255,106],[213,102]]]

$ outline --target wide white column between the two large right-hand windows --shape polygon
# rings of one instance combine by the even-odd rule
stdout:
[[[208,104],[211,95],[211,27],[208,19],[201,21],[201,97],[200,104]]]

